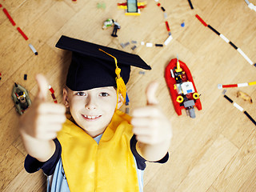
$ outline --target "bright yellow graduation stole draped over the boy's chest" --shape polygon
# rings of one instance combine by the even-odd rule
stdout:
[[[100,142],[66,120],[58,133],[70,191],[136,192],[138,176],[130,150],[130,116],[116,110]]]

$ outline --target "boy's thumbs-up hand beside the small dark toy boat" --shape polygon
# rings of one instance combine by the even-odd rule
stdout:
[[[66,107],[62,104],[47,102],[48,82],[42,74],[36,76],[38,94],[33,104],[22,114],[19,130],[23,136],[29,135],[39,140],[52,140],[62,130],[66,121]]]

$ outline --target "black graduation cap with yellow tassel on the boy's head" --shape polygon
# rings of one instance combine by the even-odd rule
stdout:
[[[73,52],[66,86],[74,91],[114,86],[126,98],[124,92],[130,78],[130,66],[151,70],[136,54],[64,35],[58,40],[56,47]]]

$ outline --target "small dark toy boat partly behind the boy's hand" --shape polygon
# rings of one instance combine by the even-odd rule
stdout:
[[[14,89],[11,94],[18,114],[22,115],[24,111],[31,105],[28,91],[14,82]]]

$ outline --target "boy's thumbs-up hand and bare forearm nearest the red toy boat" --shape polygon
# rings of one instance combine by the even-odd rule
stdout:
[[[161,159],[170,147],[172,128],[170,121],[158,106],[155,93],[157,82],[151,82],[146,89],[147,105],[135,109],[131,124],[136,135],[137,150],[146,160]]]

